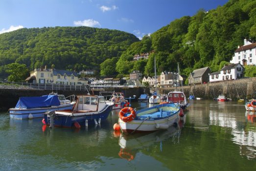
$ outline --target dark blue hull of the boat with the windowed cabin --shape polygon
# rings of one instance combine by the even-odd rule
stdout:
[[[108,118],[111,110],[112,110],[112,106],[108,106],[105,110],[100,112],[87,112],[87,113],[70,112],[70,114],[68,114],[69,112],[66,112],[66,114],[58,114],[60,112],[57,112],[54,115],[53,126],[71,128],[71,127],[74,127],[74,124],[77,122],[81,127],[85,127],[86,120],[88,122],[88,125],[99,124],[101,121],[104,121]],[[47,113],[44,114],[44,119],[45,119],[46,125],[49,126],[50,118],[47,115]],[[96,121],[96,123],[94,120]]]

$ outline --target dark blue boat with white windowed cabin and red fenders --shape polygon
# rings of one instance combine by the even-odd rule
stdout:
[[[98,125],[107,119],[112,107],[106,104],[103,96],[78,95],[72,109],[46,112],[42,122],[50,128]]]

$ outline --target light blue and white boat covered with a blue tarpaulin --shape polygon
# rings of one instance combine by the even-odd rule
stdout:
[[[70,100],[68,100],[70,98]],[[20,97],[16,107],[10,108],[10,118],[32,119],[42,118],[47,111],[71,109],[75,96],[65,98],[64,95],[50,94],[40,97]]]

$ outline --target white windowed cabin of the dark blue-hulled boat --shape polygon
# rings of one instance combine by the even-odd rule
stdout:
[[[106,107],[105,98],[95,95],[78,95],[73,111],[91,112],[100,111]]]

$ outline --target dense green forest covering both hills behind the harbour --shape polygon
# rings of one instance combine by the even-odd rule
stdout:
[[[58,69],[95,69],[101,76],[129,74],[140,70],[152,75],[154,57],[158,74],[182,74],[209,66],[217,71],[232,59],[244,39],[256,40],[256,0],[229,0],[205,11],[199,9],[163,26],[139,41],[134,35],[91,27],[19,29],[0,34],[0,77],[5,65],[26,64],[32,70],[41,65]],[[136,54],[151,52],[149,59],[133,61]]]

